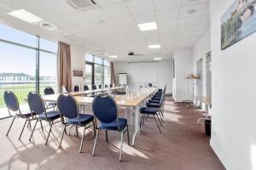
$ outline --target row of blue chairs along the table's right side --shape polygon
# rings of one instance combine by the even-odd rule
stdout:
[[[164,102],[165,102],[165,95],[166,95],[166,86],[164,90],[159,90],[154,96],[148,100],[148,103],[146,104],[146,107],[142,107],[140,109],[140,112],[142,114],[141,122],[140,122],[140,127],[142,127],[142,124],[144,124],[144,120],[147,119],[149,116],[154,117],[154,121],[159,128],[160,133],[161,129],[160,126],[162,127],[162,122],[164,122],[163,117],[164,117]],[[159,121],[159,123],[157,122]]]

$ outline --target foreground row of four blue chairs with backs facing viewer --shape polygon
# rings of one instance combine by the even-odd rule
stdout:
[[[59,147],[61,147],[63,136],[65,133],[67,134],[67,127],[70,125],[75,126],[76,129],[78,127],[84,127],[83,136],[82,136],[80,147],[79,147],[79,152],[81,152],[83,148],[85,130],[90,127],[93,128],[93,131],[96,136],[94,146],[93,146],[93,151],[92,151],[93,156],[95,155],[96,141],[97,141],[98,135],[102,130],[105,130],[106,132],[107,142],[108,142],[108,131],[116,131],[121,134],[119,161],[121,161],[123,137],[125,133],[127,133],[128,144],[130,145],[129,127],[127,124],[127,119],[119,118],[118,106],[115,100],[108,94],[96,95],[92,103],[93,115],[80,114],[79,105],[77,104],[76,99],[74,99],[73,96],[70,94],[60,94],[56,104],[58,111],[48,111],[45,107],[42,96],[37,92],[30,92],[27,95],[27,103],[30,108],[30,112],[28,113],[21,113],[19,101],[13,92],[11,91],[4,92],[3,97],[4,97],[5,104],[7,105],[8,111],[15,112],[15,116],[13,118],[13,121],[10,124],[10,127],[8,129],[6,136],[9,135],[9,131],[13,126],[15,119],[22,118],[22,119],[25,119],[25,123],[24,123],[24,126],[22,127],[19,139],[21,138],[21,135],[27,123],[29,127],[32,127],[31,126],[32,121],[35,121],[35,124],[34,124],[34,127],[32,128],[32,133],[30,135],[29,141],[31,141],[32,139],[33,133],[35,131],[35,128],[37,127],[38,122],[40,122],[41,129],[44,132],[44,127],[42,124],[42,122],[44,121],[49,123],[49,132],[48,132],[45,144],[48,143],[49,134],[51,133],[53,125],[55,123],[61,122],[63,125],[63,131],[61,133],[61,140],[60,140]],[[99,126],[97,126],[96,120],[100,122]]]

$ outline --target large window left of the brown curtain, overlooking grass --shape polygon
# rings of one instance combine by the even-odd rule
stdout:
[[[0,24],[0,109],[6,90],[23,104],[30,91],[56,89],[56,53],[57,42]]]

